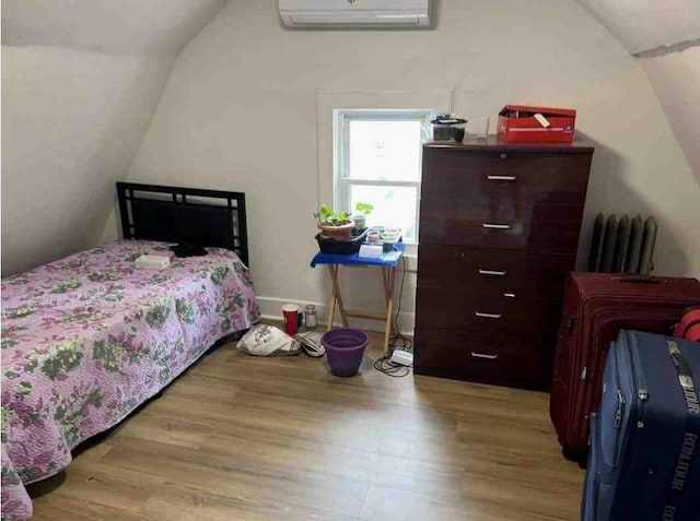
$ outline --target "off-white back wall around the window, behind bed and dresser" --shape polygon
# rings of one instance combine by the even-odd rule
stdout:
[[[129,170],[131,180],[247,193],[268,312],[328,295],[326,273],[308,268],[312,213],[329,197],[317,193],[327,175],[317,147],[328,142],[317,133],[319,91],[454,90],[468,119],[509,102],[575,107],[581,137],[596,144],[588,222],[597,211],[653,212],[658,272],[700,274],[700,187],[641,64],[573,0],[445,0],[424,32],[289,32],[276,7],[230,2],[183,51]],[[380,281],[366,270],[352,277]],[[381,295],[352,284],[362,287]]]

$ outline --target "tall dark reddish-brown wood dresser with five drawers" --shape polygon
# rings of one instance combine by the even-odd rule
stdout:
[[[423,146],[415,371],[546,390],[593,147]]]

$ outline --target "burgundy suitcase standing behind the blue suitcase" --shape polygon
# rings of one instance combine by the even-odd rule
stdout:
[[[585,461],[588,417],[600,402],[603,366],[621,329],[670,334],[700,304],[695,279],[572,273],[559,328],[549,414],[567,458]]]

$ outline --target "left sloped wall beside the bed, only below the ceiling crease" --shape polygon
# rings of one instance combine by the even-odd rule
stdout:
[[[2,275],[102,232],[170,60],[2,46]]]

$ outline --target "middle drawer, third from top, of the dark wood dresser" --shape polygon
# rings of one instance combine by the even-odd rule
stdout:
[[[477,295],[563,298],[575,263],[574,256],[421,244],[418,284]]]

